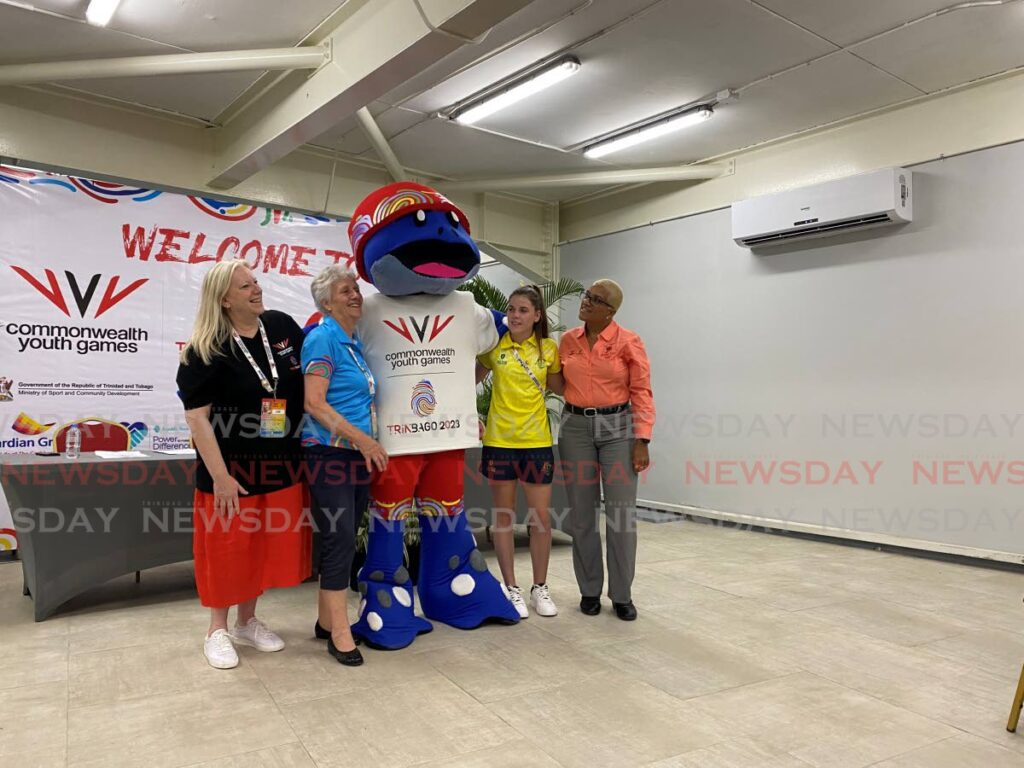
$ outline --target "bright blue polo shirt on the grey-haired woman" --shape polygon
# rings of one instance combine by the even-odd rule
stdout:
[[[362,357],[362,343],[356,334],[349,337],[333,317],[309,332],[302,345],[302,372],[328,380],[327,403],[345,421],[372,437],[371,418],[377,383]],[[303,445],[353,447],[348,440],[331,439],[331,432],[311,416],[302,428]]]

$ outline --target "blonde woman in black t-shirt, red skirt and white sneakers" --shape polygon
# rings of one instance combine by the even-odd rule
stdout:
[[[263,651],[285,647],[256,618],[256,598],[309,575],[302,340],[288,314],[264,309],[244,261],[207,272],[177,384],[199,454],[193,550],[200,602],[211,609],[204,652],[217,669],[238,666],[232,641]],[[238,616],[228,631],[231,605]]]

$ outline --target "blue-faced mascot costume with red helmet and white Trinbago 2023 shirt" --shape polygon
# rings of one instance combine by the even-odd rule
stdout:
[[[348,234],[359,276],[380,291],[367,297],[358,333],[378,382],[379,440],[390,457],[373,480],[352,634],[370,647],[395,649],[433,629],[413,612],[403,565],[402,534],[413,514],[424,615],[467,630],[487,621],[515,624],[518,613],[487,570],[463,508],[465,449],[479,444],[476,356],[498,343],[500,323],[456,291],[480,266],[469,221],[434,189],[401,181],[364,200]]]

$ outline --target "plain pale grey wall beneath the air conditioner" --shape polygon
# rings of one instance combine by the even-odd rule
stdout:
[[[564,246],[562,274],[622,283],[652,360],[641,499],[1024,561],[1021,179],[1024,143],[927,163],[912,224],[774,255],[728,209]],[[759,460],[812,475],[744,478]]]

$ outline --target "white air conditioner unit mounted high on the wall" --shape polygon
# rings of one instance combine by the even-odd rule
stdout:
[[[885,168],[732,205],[732,239],[764,248],[913,220],[911,174]]]

